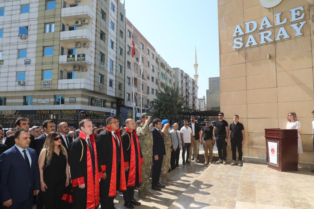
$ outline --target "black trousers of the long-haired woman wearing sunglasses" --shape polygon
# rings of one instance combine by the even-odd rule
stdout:
[[[46,182],[47,189],[43,193],[45,209],[61,209],[61,199],[65,189],[65,181]]]

